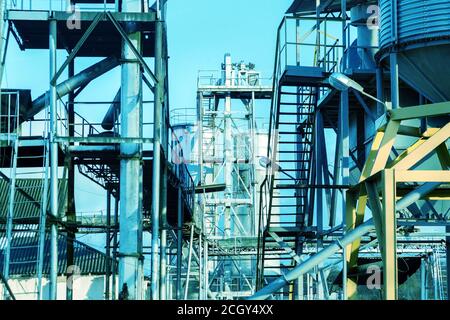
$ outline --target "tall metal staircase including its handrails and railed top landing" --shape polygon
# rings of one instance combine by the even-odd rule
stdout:
[[[319,99],[326,94],[325,79],[335,71],[339,59],[335,54],[338,41],[334,40],[330,45],[321,46],[318,41],[317,46],[312,46],[313,52],[305,54],[314,57],[309,65],[298,58],[305,56],[300,50],[303,43],[294,43],[297,60],[289,62],[287,48],[292,43],[280,43],[285,38],[280,31],[289,19],[295,20],[285,18],[277,38],[267,171],[260,189],[258,289],[300,263],[303,244],[317,238],[314,218],[315,190],[320,188],[316,186],[314,165],[315,157],[320,157],[315,150],[317,109]],[[317,280],[315,274],[311,276]],[[272,298],[294,299],[295,291],[293,285],[286,286]]]

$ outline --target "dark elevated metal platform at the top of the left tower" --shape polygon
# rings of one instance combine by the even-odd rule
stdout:
[[[91,1],[92,2],[92,1]],[[14,36],[22,50],[49,48],[49,21],[57,20],[58,49],[72,50],[92,21],[100,12],[80,12],[80,29],[70,29],[68,21],[73,19],[72,13],[63,11],[24,11],[8,10],[7,19],[13,24]],[[154,34],[156,13],[122,13],[111,12],[111,15],[125,30],[142,32],[142,55],[154,56]],[[78,18],[78,17],[77,17]],[[129,22],[133,21],[133,22]],[[105,17],[98,23],[86,43],[78,51],[80,57],[121,56],[122,39],[114,25]]]

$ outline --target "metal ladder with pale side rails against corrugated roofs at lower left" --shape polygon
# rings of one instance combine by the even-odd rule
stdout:
[[[36,156],[21,156],[19,155],[19,146],[25,146],[30,140],[21,139],[16,135],[12,141],[12,165],[10,170],[10,193],[9,205],[6,221],[6,246],[5,246],[5,261],[4,261],[4,277],[6,281],[10,278],[11,267],[23,264],[35,263],[35,291],[22,292],[24,294],[34,293],[36,298],[42,298],[42,273],[44,260],[44,245],[45,245],[45,225],[48,202],[48,165],[49,165],[49,145],[47,139],[42,139],[42,154]],[[20,160],[39,160],[42,159],[42,169],[39,171],[25,171],[18,172],[17,165]],[[30,179],[30,175],[38,175],[39,178]],[[24,178],[20,178],[20,177]],[[15,226],[23,225],[20,217],[15,217],[16,210],[20,208],[35,206],[39,209],[38,224],[34,227],[25,229],[25,235],[31,234],[32,244],[27,244],[26,241],[20,241],[23,230],[14,231]],[[31,231],[31,232],[30,232]],[[34,238],[34,239],[33,239]],[[15,245],[17,244],[17,245]],[[15,254],[19,250],[29,250],[36,247],[36,258],[33,260],[23,260],[20,255]],[[22,294],[16,293],[16,294]]]

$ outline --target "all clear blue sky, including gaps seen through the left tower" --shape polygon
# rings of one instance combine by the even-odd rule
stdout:
[[[169,45],[169,85],[171,109],[195,108],[199,70],[219,70],[224,54],[233,62],[252,62],[262,77],[273,72],[276,32],[291,0],[169,0],[167,28]],[[67,53],[58,51],[61,65]],[[98,61],[77,58],[75,72]],[[20,51],[11,37],[4,88],[31,89],[35,99],[48,90],[48,50]],[[151,61],[149,61],[151,63]],[[64,73],[60,80],[64,80]],[[108,72],[92,83],[77,98],[78,101],[112,101],[120,86],[120,68]],[[144,100],[151,100],[148,90]],[[108,105],[93,107],[77,105],[76,111],[91,123],[101,122]],[[151,121],[152,105],[144,105]],[[264,110],[258,110],[264,114]],[[151,131],[151,130],[149,130]],[[77,174],[77,212],[100,212],[106,209],[106,191]],[[97,237],[81,235],[80,239],[103,250]]]

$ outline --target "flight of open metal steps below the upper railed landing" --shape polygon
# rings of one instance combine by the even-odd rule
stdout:
[[[314,232],[309,203],[314,193],[308,186],[313,163],[313,132],[317,90],[313,86],[293,87],[279,82],[275,117],[275,154],[271,157],[269,214],[262,233],[260,270],[262,280],[270,283],[301,262],[299,236]],[[264,285],[261,283],[261,285]],[[293,287],[279,292],[292,296]]]

